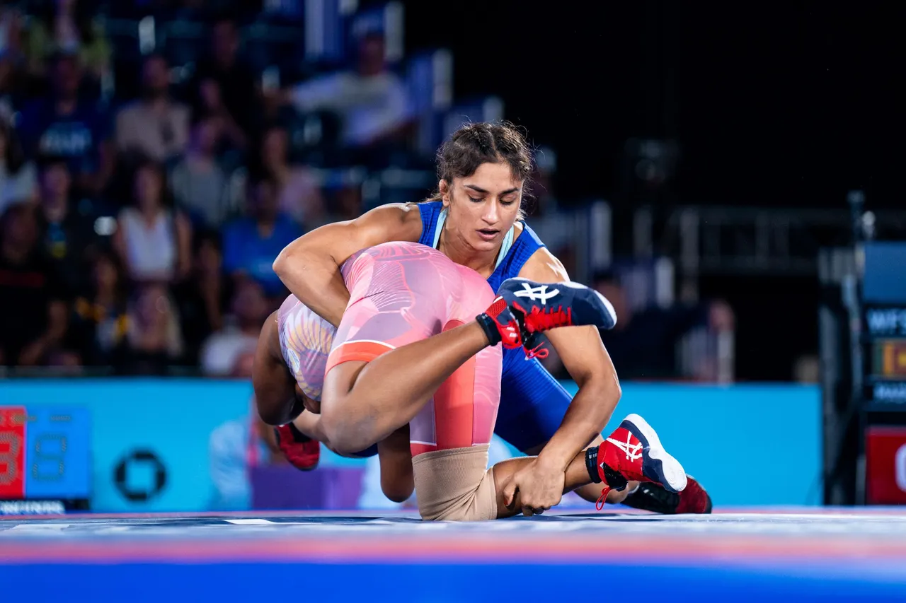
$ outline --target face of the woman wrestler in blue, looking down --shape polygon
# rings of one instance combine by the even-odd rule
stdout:
[[[522,181],[506,163],[483,163],[467,177],[441,180],[439,190],[448,210],[444,226],[478,252],[500,249],[522,202]]]

